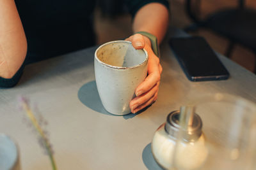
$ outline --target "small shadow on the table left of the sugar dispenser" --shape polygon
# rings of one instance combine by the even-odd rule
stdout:
[[[163,170],[154,159],[152,152],[151,152],[151,143],[148,143],[148,145],[144,148],[142,152],[142,159],[149,170]]]

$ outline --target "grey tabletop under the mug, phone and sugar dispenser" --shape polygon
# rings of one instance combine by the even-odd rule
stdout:
[[[168,34],[188,36],[174,28]],[[26,66],[16,87],[0,89],[0,132],[17,141],[22,169],[51,169],[51,163],[24,121],[19,96],[27,97],[34,112],[47,120],[44,128],[58,169],[159,169],[150,142],[170,111],[209,92],[256,102],[255,74],[219,55],[230,72],[228,80],[191,82],[166,42],[161,46],[159,98],[136,115],[115,116],[104,110],[93,70],[97,46]]]

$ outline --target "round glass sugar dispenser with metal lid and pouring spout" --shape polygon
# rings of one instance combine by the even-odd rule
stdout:
[[[202,132],[202,120],[193,106],[172,111],[154,134],[152,153],[164,169],[199,169],[208,150]]]

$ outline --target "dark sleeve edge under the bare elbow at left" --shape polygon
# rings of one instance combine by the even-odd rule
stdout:
[[[22,64],[22,66],[20,66],[20,69],[17,71],[16,74],[14,74],[14,76],[12,78],[2,78],[2,77],[0,77],[0,88],[1,87],[6,88],[6,87],[15,86],[20,80],[20,76],[22,75],[24,65],[25,64]]]

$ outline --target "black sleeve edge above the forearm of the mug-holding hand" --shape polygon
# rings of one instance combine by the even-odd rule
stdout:
[[[170,11],[170,6],[168,0],[126,0],[125,3],[129,8],[129,12],[132,18],[136,15],[137,11],[140,10],[142,6],[148,3],[161,3]]]

